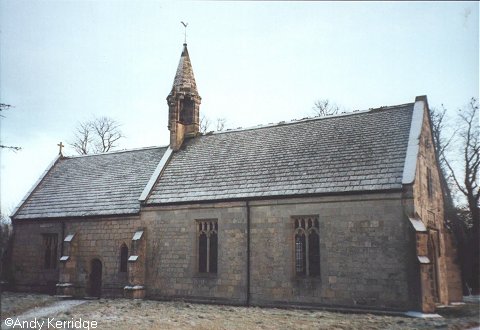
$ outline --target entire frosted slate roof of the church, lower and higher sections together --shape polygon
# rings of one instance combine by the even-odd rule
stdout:
[[[398,190],[415,167],[417,103],[216,132],[176,152],[60,157],[13,218],[137,214],[139,200],[148,206]]]

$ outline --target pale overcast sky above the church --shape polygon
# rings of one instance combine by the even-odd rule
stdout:
[[[201,113],[247,127],[479,94],[478,2],[0,1],[1,207],[10,213],[79,121],[123,124],[120,149],[168,144],[189,23]],[[73,155],[66,148],[67,155]]]

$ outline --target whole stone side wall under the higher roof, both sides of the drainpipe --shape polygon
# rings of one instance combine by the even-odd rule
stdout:
[[[247,212],[250,295],[247,297]],[[295,275],[293,216],[318,216],[320,277]],[[198,273],[196,221],[218,220],[218,273]],[[149,207],[147,297],[253,305],[411,307],[401,193]],[[409,293],[410,292],[410,293]],[[415,294],[415,293],[414,293]]]

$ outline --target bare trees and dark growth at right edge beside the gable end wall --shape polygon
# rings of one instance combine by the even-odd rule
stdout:
[[[435,148],[439,157],[441,182],[444,186],[447,225],[457,240],[464,283],[479,290],[479,185],[480,142],[478,139],[478,99],[472,98],[459,110],[456,129],[449,129],[446,109],[431,114]],[[452,150],[453,149],[453,150]],[[463,195],[467,205],[453,205],[452,190]],[[468,292],[465,292],[468,293]]]

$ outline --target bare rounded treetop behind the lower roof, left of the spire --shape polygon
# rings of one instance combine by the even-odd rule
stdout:
[[[75,137],[69,144],[79,155],[104,153],[117,147],[116,142],[124,137],[120,124],[109,117],[96,117],[79,123]]]

